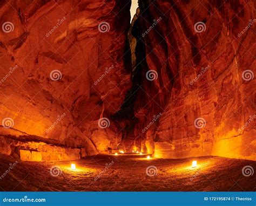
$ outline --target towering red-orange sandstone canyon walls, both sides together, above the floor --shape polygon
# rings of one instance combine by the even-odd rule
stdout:
[[[255,122],[241,129],[255,112],[255,81],[242,79],[255,66],[254,26],[238,37],[254,3],[236,4],[139,1],[129,32],[131,2],[2,3],[2,22],[14,24],[1,32],[2,77],[17,68],[1,82],[1,120],[14,123],[1,127],[1,152],[26,147],[62,160],[58,149],[43,153],[54,145],[95,155],[123,145],[156,157],[255,160]],[[205,31],[196,32],[200,21]],[[99,32],[100,22],[109,31]],[[109,127],[100,128],[100,118]],[[197,118],[205,127],[194,126]]]

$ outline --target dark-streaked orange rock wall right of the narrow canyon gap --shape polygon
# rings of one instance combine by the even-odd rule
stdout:
[[[139,7],[134,134],[142,148],[164,158],[256,160],[255,2],[141,0]]]

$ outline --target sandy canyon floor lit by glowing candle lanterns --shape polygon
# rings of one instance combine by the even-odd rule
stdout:
[[[192,160],[198,167],[192,169]],[[223,157],[150,159],[97,155],[79,161],[22,162],[0,159],[1,191],[255,191],[256,162]],[[70,164],[76,164],[71,170]],[[6,172],[8,170],[8,172]]]

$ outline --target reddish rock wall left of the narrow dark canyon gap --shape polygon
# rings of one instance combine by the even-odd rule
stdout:
[[[131,85],[124,64],[130,59],[130,5],[2,1],[2,136],[30,141],[34,150],[33,141],[84,147],[87,155],[117,147],[121,136],[115,135],[118,124],[111,116]],[[99,126],[100,118],[107,118],[109,127]]]

